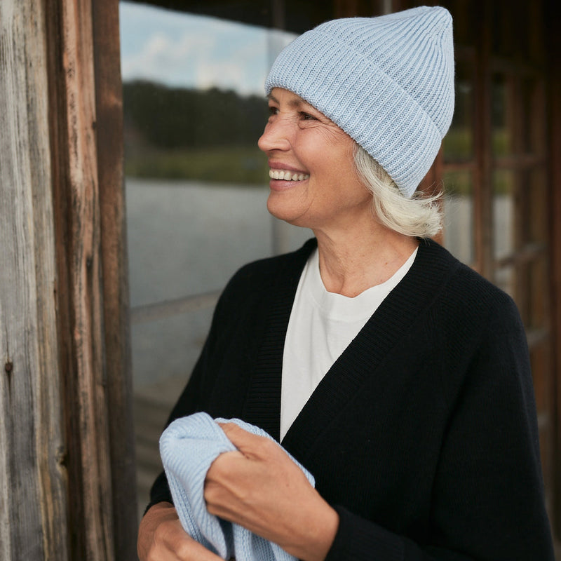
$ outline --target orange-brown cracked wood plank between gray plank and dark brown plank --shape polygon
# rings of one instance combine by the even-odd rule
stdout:
[[[90,0],[46,0],[71,557],[114,557]]]

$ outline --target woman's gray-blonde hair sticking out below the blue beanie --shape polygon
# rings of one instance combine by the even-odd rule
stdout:
[[[415,191],[405,198],[386,170],[357,144],[354,154],[358,176],[372,193],[372,210],[389,229],[419,238],[431,238],[442,229],[442,193],[428,196]]]

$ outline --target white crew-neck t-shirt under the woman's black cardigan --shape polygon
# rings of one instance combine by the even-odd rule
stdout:
[[[384,298],[412,266],[417,250],[385,283],[349,298],[327,292],[320,276],[318,250],[300,277],[290,313],[283,353],[280,438],[341,353]]]

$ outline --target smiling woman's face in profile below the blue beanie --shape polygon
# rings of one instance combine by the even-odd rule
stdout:
[[[372,220],[372,195],[353,163],[354,140],[288,90],[273,88],[269,110],[258,142],[269,157],[269,212],[318,230]]]

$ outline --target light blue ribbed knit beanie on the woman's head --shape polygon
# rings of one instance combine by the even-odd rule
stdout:
[[[412,196],[454,112],[452,17],[421,6],[344,18],[292,41],[265,82],[290,90],[342,128]]]

